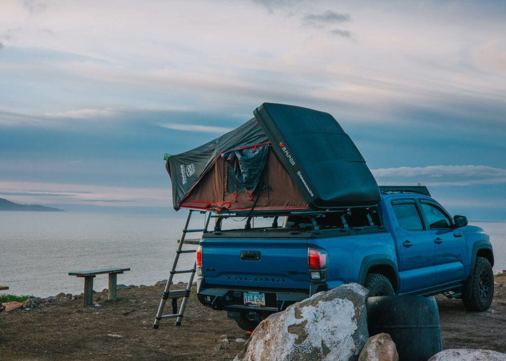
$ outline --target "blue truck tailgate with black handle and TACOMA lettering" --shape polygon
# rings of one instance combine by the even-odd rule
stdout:
[[[204,239],[206,285],[308,289],[306,239]]]

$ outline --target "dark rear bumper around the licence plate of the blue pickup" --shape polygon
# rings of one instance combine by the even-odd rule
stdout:
[[[308,285],[309,286],[309,285]],[[326,291],[324,283],[310,285],[307,291],[274,290],[274,289],[240,289],[226,286],[206,286],[202,279],[197,280],[197,297],[204,306],[216,310],[247,312],[257,311],[273,313],[286,309],[290,304],[302,301],[310,295]],[[244,306],[243,292],[254,291],[265,293],[266,305],[262,307]]]

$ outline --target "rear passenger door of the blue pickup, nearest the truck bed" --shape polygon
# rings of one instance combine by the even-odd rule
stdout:
[[[420,210],[414,199],[392,201],[397,225],[395,237],[400,248],[400,293],[419,291],[434,285],[436,275],[434,241],[424,229]]]

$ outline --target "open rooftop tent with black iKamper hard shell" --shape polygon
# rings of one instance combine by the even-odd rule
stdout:
[[[331,115],[270,103],[254,114],[167,159],[176,210],[318,210],[379,201],[364,159]]]

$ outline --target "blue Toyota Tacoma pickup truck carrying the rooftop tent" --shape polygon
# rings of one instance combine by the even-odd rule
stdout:
[[[250,215],[240,228],[217,217],[197,250],[198,299],[248,331],[273,312],[350,282],[370,296],[442,293],[468,310],[488,309],[489,236],[465,216],[450,216],[425,187],[381,190],[373,207]]]

